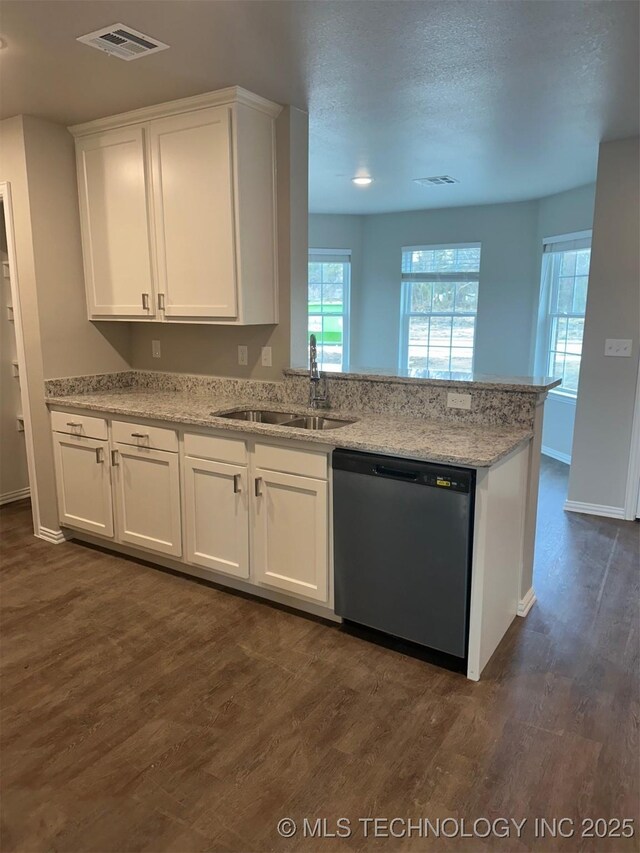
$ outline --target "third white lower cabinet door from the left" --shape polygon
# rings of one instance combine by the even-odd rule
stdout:
[[[187,560],[249,577],[247,469],[184,457]]]

